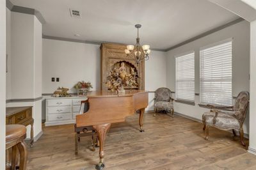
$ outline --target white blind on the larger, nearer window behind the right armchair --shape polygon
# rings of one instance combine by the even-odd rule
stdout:
[[[232,41],[200,50],[200,102],[232,105]]]

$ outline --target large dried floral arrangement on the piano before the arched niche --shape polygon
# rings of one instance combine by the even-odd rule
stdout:
[[[111,91],[116,91],[116,92],[124,92],[124,86],[132,88],[134,86],[137,86],[136,82],[136,73],[124,73],[120,72],[117,68],[114,68],[109,72],[109,75],[107,77],[107,82],[106,86],[111,90]]]

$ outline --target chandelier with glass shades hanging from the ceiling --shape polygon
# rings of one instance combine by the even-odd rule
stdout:
[[[136,24],[135,27],[138,29],[137,31],[137,38],[135,45],[127,45],[127,49],[124,50],[127,58],[132,58],[136,61],[136,64],[139,65],[140,61],[145,59],[147,61],[149,59],[148,54],[150,54],[150,46],[149,45],[140,45],[140,38],[139,38],[139,28],[141,24]]]

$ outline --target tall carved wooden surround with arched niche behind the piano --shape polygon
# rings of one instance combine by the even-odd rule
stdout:
[[[145,61],[143,60],[140,65],[136,65],[136,62],[131,58],[127,58],[124,50],[126,49],[126,45],[116,44],[116,43],[102,43],[100,46],[101,50],[101,89],[107,90],[105,83],[107,81],[107,77],[109,72],[113,69],[113,67],[122,61],[125,63],[129,63],[136,68],[136,70],[140,70],[140,79],[139,79],[139,87],[138,89],[144,89],[145,87]]]

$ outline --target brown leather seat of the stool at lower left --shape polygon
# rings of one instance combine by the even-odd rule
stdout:
[[[27,128],[24,125],[6,125],[6,142],[26,135]]]

